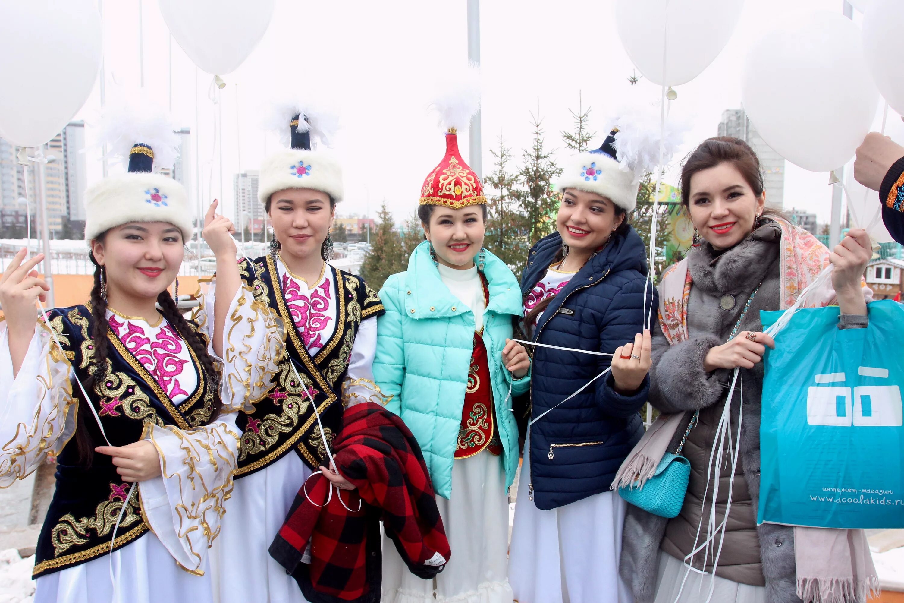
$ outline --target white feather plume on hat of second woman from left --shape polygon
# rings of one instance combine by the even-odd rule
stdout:
[[[311,142],[319,141],[330,146],[330,138],[339,129],[339,117],[329,108],[330,103],[306,98],[297,90],[281,91],[275,94],[261,110],[260,125],[268,132],[277,134],[283,146],[290,146],[292,132],[289,123],[296,115],[304,115],[298,120],[298,131],[311,133]]]

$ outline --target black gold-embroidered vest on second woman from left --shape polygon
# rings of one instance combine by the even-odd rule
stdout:
[[[274,309],[285,325],[287,356],[278,365],[268,396],[255,404],[254,412],[240,413],[236,421],[242,431],[236,477],[259,471],[293,448],[307,466],[315,469],[323,462],[326,451],[306,390],[317,405],[326,441],[332,442],[342,427],[339,390],[348,369],[354,337],[364,318],[384,313],[383,305],[362,278],[329,266],[333,270],[338,305],[336,328],[329,341],[312,357],[289,314],[276,261],[268,255],[253,260],[253,264],[252,274],[248,260],[241,260],[241,278],[254,291],[254,297]],[[304,389],[297,382],[290,362],[295,363]]]

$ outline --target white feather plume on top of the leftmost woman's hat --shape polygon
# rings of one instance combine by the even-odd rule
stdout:
[[[179,154],[179,135],[165,108],[147,99],[133,97],[111,103],[99,122],[99,144],[108,146],[108,157],[124,164],[132,146],[144,143],[154,149],[154,167],[173,167]]]

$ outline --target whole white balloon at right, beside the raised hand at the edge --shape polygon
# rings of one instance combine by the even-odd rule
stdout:
[[[755,42],[744,61],[741,101],[779,155],[813,172],[846,164],[879,103],[858,27],[815,11]]]

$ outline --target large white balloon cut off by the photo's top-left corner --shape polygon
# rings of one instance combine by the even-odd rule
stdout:
[[[100,69],[95,0],[0,3],[0,137],[41,146],[88,99]]]

